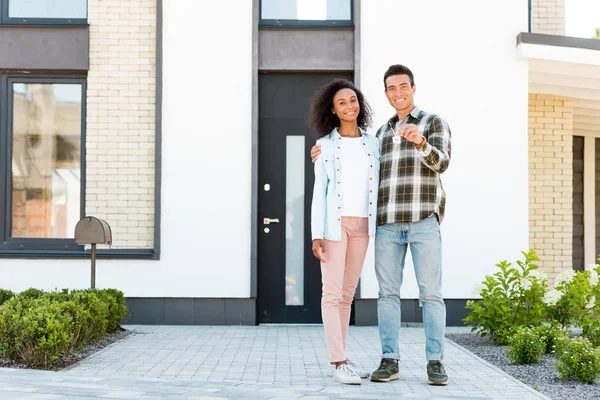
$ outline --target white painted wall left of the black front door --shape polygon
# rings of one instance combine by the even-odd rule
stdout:
[[[249,297],[252,2],[163,2],[162,256],[99,260],[126,296]],[[89,260],[0,259],[0,287],[89,287]]]

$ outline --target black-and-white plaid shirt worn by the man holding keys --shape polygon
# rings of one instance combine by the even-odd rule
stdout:
[[[450,164],[450,128],[442,118],[417,107],[404,122],[415,124],[427,143],[419,150],[403,138],[394,144],[397,115],[377,131],[381,146],[377,225],[417,222],[433,213],[442,222],[446,193],[440,174]]]

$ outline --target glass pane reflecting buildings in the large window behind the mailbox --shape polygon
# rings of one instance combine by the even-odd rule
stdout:
[[[12,237],[72,237],[80,218],[82,86],[12,88]]]

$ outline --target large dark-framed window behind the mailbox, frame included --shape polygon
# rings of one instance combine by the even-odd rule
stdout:
[[[78,249],[85,79],[0,79],[0,249]]]

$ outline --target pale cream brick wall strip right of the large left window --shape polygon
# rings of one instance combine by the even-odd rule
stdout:
[[[86,215],[113,247],[152,248],[156,1],[88,0]]]

